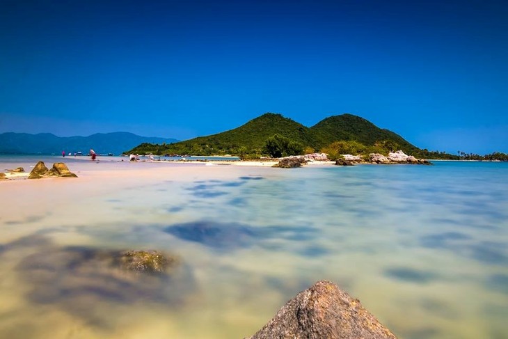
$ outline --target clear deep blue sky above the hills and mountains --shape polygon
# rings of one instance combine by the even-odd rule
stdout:
[[[353,113],[508,152],[508,1],[0,0],[0,132],[189,139]]]

